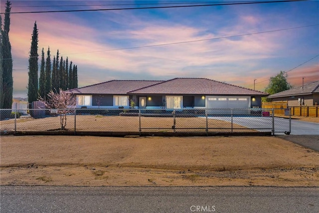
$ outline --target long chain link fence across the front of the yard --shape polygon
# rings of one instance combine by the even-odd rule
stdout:
[[[5,132],[289,132],[290,119],[274,109],[22,109],[0,110]],[[290,112],[289,112],[290,115]],[[290,116],[289,116],[290,118]],[[64,120],[65,119],[65,120]],[[62,123],[63,122],[65,123]],[[64,124],[64,125],[63,125]]]

